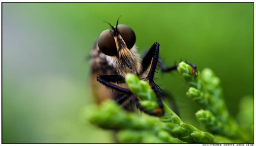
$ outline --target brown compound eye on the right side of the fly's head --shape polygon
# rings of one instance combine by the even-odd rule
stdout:
[[[117,25],[117,28],[122,36],[122,39],[124,39],[127,48],[131,49],[136,41],[134,31],[129,26],[123,24]]]

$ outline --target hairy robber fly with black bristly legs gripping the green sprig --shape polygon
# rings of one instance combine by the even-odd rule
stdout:
[[[99,35],[90,54],[91,84],[96,101],[100,103],[111,98],[123,107],[132,102],[138,109],[147,114],[163,115],[162,94],[154,82],[154,73],[157,65],[162,72],[177,70],[177,65],[166,67],[160,61],[160,44],[158,42],[154,42],[141,59],[135,45],[134,31],[127,25],[119,25],[118,21],[119,18],[115,26],[108,23],[111,29],[107,29]],[[196,73],[195,65],[190,65],[193,68],[192,73]],[[140,106],[137,96],[125,84],[126,73],[133,73],[140,79],[148,80],[158,98],[157,109],[148,112]]]

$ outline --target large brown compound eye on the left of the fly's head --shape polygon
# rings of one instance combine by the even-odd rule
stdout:
[[[116,42],[109,29],[99,35],[98,46],[99,50],[105,55],[115,56],[117,53]]]

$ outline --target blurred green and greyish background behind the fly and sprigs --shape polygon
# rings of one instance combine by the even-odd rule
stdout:
[[[3,143],[111,143],[89,124],[87,57],[103,20],[126,24],[139,52],[160,43],[166,65],[187,59],[221,78],[231,115],[253,95],[253,3],[3,3]],[[204,129],[177,73],[156,75],[184,122]],[[253,117],[253,115],[251,115]]]

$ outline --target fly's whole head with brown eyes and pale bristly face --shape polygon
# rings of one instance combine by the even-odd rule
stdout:
[[[107,61],[116,68],[117,73],[125,76],[126,73],[140,72],[140,57],[135,46],[136,36],[127,25],[111,25],[99,35],[99,50],[107,56]]]

